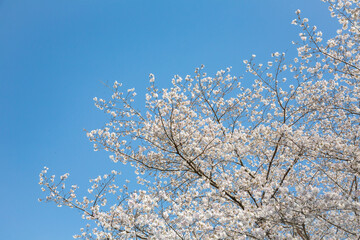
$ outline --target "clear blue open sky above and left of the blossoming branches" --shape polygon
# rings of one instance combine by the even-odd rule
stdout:
[[[37,202],[43,166],[81,188],[112,168],[131,178],[83,131],[105,123],[92,101],[109,96],[102,82],[135,87],[143,106],[149,73],[160,87],[201,64],[241,75],[252,53],[294,54],[298,8],[333,34],[319,0],[0,0],[0,239],[72,239],[83,226],[78,212]]]

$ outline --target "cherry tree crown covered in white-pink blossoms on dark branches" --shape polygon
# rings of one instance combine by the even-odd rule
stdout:
[[[117,82],[111,100],[95,98],[111,120],[88,137],[131,164],[141,190],[112,171],[79,199],[68,174],[59,182],[45,168],[45,200],[90,222],[75,238],[360,239],[360,3],[325,2],[337,35],[323,41],[297,11],[298,57],[253,55],[251,87],[201,67],[169,89],[150,75],[145,112]]]

